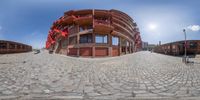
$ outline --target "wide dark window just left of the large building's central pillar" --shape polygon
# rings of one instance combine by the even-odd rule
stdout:
[[[79,43],[92,43],[92,34],[80,35]]]

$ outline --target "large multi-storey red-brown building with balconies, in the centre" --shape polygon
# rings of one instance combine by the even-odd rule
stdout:
[[[118,10],[70,10],[50,28],[46,48],[69,56],[119,56],[141,50],[137,24]]]

